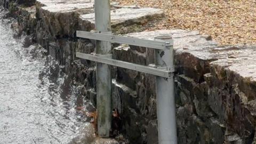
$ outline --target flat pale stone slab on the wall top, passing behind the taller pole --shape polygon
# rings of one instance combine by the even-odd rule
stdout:
[[[162,17],[164,11],[161,9],[154,8],[141,8],[141,9],[129,9],[122,8],[111,11],[111,25],[117,26],[125,23],[130,25],[130,23],[145,23],[150,18]],[[80,18],[82,21],[88,21],[94,25],[95,23],[95,14],[84,14]]]

